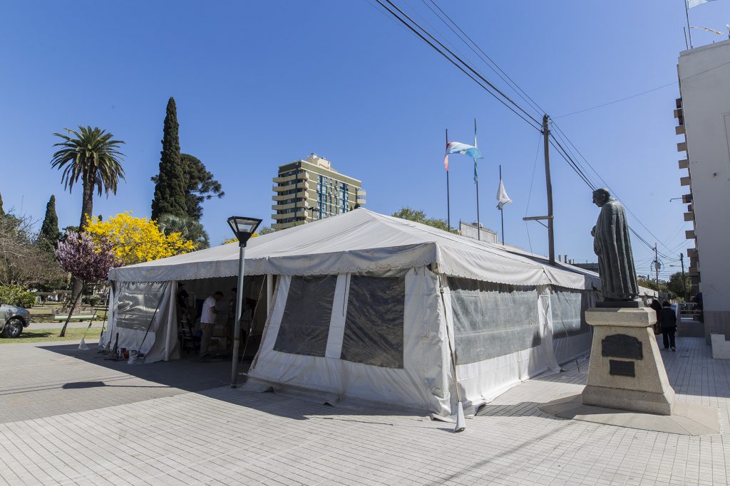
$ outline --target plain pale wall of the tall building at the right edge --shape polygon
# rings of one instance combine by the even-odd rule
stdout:
[[[682,52],[679,77],[705,329],[730,335],[730,41]]]

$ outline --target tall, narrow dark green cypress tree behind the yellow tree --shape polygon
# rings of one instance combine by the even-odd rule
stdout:
[[[152,200],[152,219],[161,214],[185,216],[185,196],[187,191],[183,162],[180,160],[180,137],[177,135],[177,106],[170,97],[167,101],[162,152],[160,152],[160,173],[155,181],[155,197]]]

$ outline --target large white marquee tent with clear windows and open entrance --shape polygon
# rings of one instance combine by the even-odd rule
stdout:
[[[163,302],[147,361],[176,357],[177,282],[237,271],[235,244],[112,270],[107,342],[121,331],[134,348],[142,329],[125,316],[144,308],[149,322]],[[364,208],[253,238],[245,275],[269,283],[247,387],[435,415],[453,414],[454,369],[474,409],[587,353],[599,287],[595,273]]]

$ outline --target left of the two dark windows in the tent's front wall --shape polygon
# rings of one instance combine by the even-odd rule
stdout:
[[[291,278],[275,351],[324,357],[337,275]]]

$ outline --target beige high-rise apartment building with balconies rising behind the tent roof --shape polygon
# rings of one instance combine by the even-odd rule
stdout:
[[[274,230],[347,213],[365,204],[362,182],[335,171],[329,160],[317,154],[280,165],[273,189]]]

